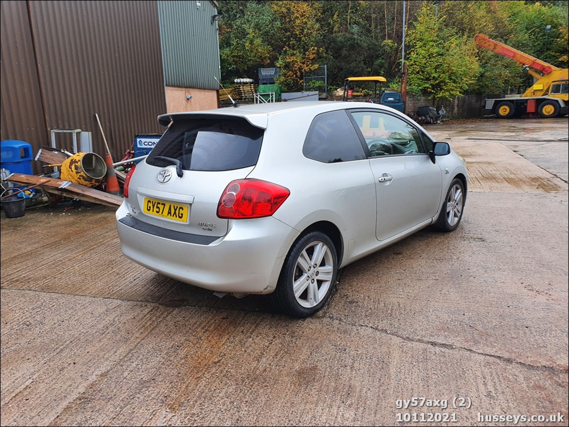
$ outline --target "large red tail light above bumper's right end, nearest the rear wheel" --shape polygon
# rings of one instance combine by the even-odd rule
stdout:
[[[231,181],[217,205],[220,218],[270,217],[290,195],[280,185],[256,179]]]

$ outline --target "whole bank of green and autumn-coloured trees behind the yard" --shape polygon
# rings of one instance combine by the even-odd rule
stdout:
[[[401,28],[407,23],[409,89],[436,97],[523,90],[533,80],[515,61],[475,47],[481,32],[558,67],[567,67],[567,1],[219,0],[221,75],[257,77],[282,68],[285,90],[328,65],[328,85],[349,75],[380,74],[395,89]],[[551,26],[549,32],[547,26]],[[332,92],[329,90],[329,92]]]

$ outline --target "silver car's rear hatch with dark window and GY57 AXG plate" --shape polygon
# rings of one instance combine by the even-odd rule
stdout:
[[[253,170],[263,134],[240,117],[175,119],[131,177],[131,214],[182,233],[225,235],[228,219],[217,217],[221,194]]]

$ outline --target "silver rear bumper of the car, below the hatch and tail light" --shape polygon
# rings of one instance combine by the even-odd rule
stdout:
[[[230,221],[229,231],[209,244],[188,243],[145,233],[120,222],[122,253],[152,271],[219,292],[271,293],[298,231],[273,217]],[[127,222],[128,223],[128,222]]]

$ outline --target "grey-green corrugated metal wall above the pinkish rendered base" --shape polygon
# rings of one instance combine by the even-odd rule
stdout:
[[[217,14],[212,2],[159,1],[160,34],[167,86],[218,89],[220,76]]]

